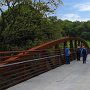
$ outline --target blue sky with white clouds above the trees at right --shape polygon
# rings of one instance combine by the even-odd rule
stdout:
[[[88,21],[90,20],[90,0],[62,0],[53,16],[58,19],[70,21]]]

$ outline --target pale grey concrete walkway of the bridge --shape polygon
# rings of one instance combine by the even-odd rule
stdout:
[[[90,90],[90,55],[86,64],[73,61],[7,90]]]

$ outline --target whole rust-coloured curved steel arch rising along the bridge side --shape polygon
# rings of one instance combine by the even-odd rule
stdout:
[[[36,47],[33,47],[31,49],[28,49],[26,51],[23,51],[23,52],[17,54],[16,56],[12,56],[11,58],[3,61],[2,64],[15,62],[17,59],[20,59],[21,57],[23,57],[24,55],[28,54],[29,52],[32,52],[32,54],[34,54],[35,51],[37,51],[37,50],[44,50],[44,49],[47,49],[49,47],[52,47],[52,46],[55,46],[57,44],[64,43],[64,42],[70,41],[70,40],[81,41],[87,48],[89,48],[87,42],[84,39],[81,39],[79,37],[65,37],[65,38],[53,40],[53,41],[50,41],[50,42],[38,45]]]

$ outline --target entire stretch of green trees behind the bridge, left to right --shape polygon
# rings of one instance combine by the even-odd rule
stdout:
[[[26,50],[65,36],[89,40],[90,21],[72,22],[49,16],[62,4],[61,0],[0,1],[0,51]]]

